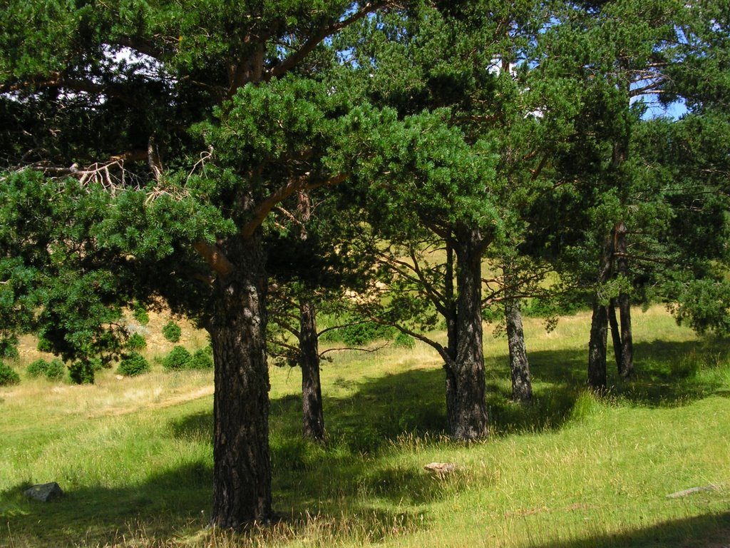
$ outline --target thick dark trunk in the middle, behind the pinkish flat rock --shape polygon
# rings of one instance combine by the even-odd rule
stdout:
[[[482,251],[475,229],[463,229],[456,237],[456,359],[448,364],[447,402],[453,406],[451,436],[459,441],[485,438],[484,354],[482,346]],[[450,376],[449,376],[450,373]]]

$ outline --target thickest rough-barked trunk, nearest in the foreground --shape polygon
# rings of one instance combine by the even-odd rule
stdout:
[[[215,360],[211,522],[239,529],[272,515],[266,275],[258,232],[231,238],[231,273],[215,282],[210,335]]]

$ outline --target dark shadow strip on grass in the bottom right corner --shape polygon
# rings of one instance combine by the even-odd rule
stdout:
[[[586,539],[535,541],[534,548],[724,548],[730,544],[730,512],[687,517],[624,533]]]

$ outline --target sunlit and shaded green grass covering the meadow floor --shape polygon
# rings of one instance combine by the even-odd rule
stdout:
[[[299,372],[272,369],[282,519],[241,534],[205,529],[211,373],[153,365],[73,387],[17,364],[22,383],[0,389],[0,546],[726,546],[729,344],[696,338],[661,308],[637,311],[637,378],[610,368],[610,395],[596,399],[583,388],[588,322],[581,313],[545,333],[526,320],[530,407],[510,402],[506,341],[485,335],[491,438],[470,446],[445,437],[443,373],[425,346],[323,364],[323,446],[300,436]],[[204,343],[193,335],[183,329],[191,348]],[[456,472],[432,476],[433,461]],[[23,497],[50,481],[64,498]]]

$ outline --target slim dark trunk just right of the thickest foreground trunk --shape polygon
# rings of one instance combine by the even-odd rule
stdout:
[[[301,411],[304,437],[315,441],[324,439],[322,386],[317,337],[317,316],[313,302],[299,306],[299,365],[301,367]]]

